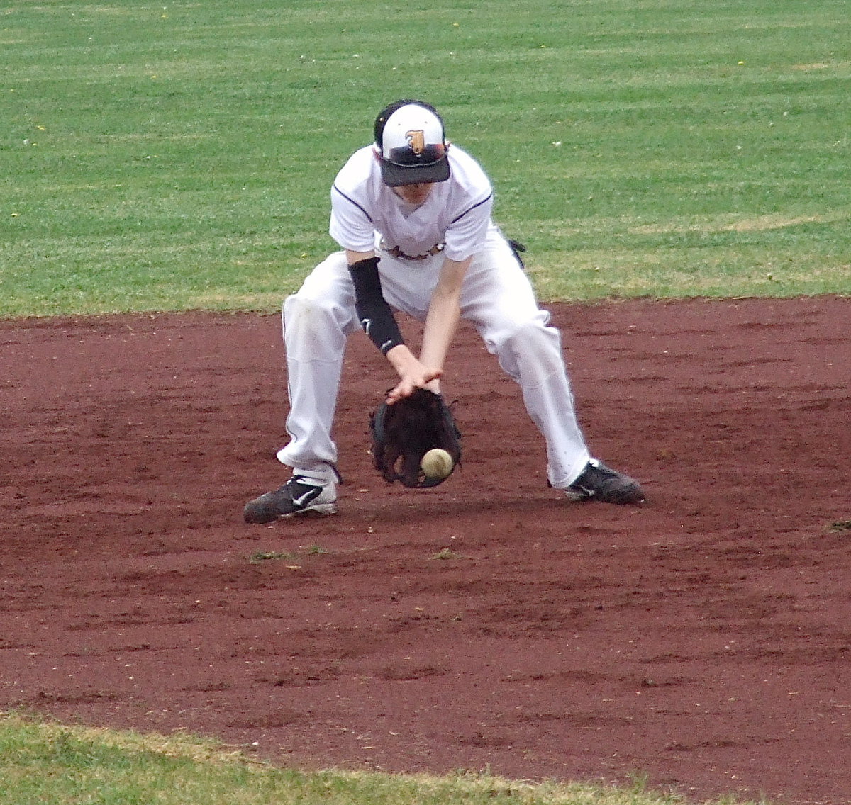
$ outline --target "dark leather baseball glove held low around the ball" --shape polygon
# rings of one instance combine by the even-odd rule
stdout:
[[[369,429],[374,467],[389,483],[399,480],[411,487],[443,483],[445,478],[426,478],[420,468],[422,457],[436,447],[452,456],[453,468],[460,463],[461,434],[452,411],[440,394],[425,388],[393,405],[382,403],[369,417]]]

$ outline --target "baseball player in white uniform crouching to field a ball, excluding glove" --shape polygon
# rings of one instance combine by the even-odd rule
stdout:
[[[290,440],[277,459],[292,475],[246,504],[247,522],[336,513],[331,428],[351,333],[363,329],[396,371],[386,399],[392,405],[417,388],[440,392],[461,318],[519,383],[545,439],[550,485],[570,501],[643,502],[637,481],[592,458],[585,445],[560,333],[494,226],[493,199],[482,167],[448,143],[433,106],[399,100],[380,112],[374,143],[349,158],[331,189],[329,233],[341,251],[283,303]],[[424,323],[419,355],[404,343],[394,309]]]

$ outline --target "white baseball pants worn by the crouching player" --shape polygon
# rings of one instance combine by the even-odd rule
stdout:
[[[387,302],[424,321],[443,255],[412,261],[377,254]],[[538,307],[525,271],[498,232],[472,258],[460,305],[461,318],[476,327],[488,352],[520,385],[526,410],[545,439],[550,484],[567,487],[591,456],[576,420],[561,336],[548,326],[550,314]],[[291,439],[277,458],[296,471],[333,478],[329,465],[337,461],[337,446],[331,428],[346,338],[360,329],[346,254],[334,252],[283,303]]]

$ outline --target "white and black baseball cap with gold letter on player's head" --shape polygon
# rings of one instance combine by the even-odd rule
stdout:
[[[388,106],[386,111],[393,110]],[[416,101],[404,103],[375,122],[381,178],[391,187],[449,178],[443,121],[436,111]]]

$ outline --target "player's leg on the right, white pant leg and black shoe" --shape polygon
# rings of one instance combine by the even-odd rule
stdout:
[[[574,500],[637,502],[634,481],[591,459],[574,408],[561,335],[549,326],[549,313],[540,309],[528,276],[498,235],[489,237],[471,264],[461,315],[473,322],[488,351],[519,383],[526,410],[545,439],[550,484]],[[588,473],[594,475],[590,493],[575,488]]]

